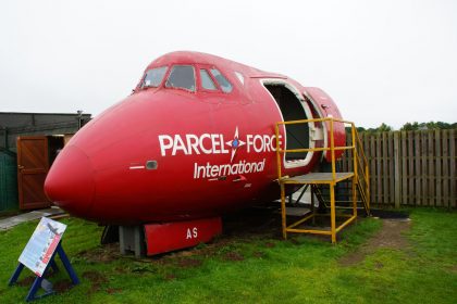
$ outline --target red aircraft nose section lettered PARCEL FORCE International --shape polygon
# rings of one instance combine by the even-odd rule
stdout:
[[[279,198],[275,123],[329,115],[341,117],[320,89],[209,54],[170,53],[73,137],[45,190],[63,210],[102,224],[217,216]],[[328,144],[328,126],[305,127],[282,127],[281,145],[298,144],[298,135],[305,145]],[[344,140],[335,125],[335,145]],[[324,157],[287,159],[283,175],[306,174]]]

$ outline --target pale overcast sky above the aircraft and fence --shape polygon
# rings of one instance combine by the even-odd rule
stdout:
[[[2,0],[0,39],[0,112],[97,115],[193,50],[320,87],[358,126],[457,121],[454,0]]]

